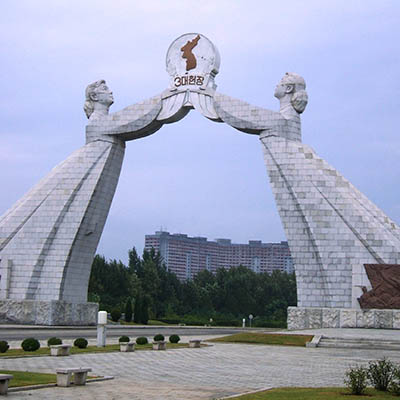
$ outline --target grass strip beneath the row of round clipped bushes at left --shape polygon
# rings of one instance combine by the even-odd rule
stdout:
[[[183,347],[189,347],[188,343],[167,343],[167,350],[178,349]],[[151,350],[152,344],[136,345],[136,350]],[[119,344],[108,344],[106,347],[88,346],[86,349],[79,349],[78,347],[71,347],[71,354],[81,354],[81,353],[111,353],[119,351]],[[0,353],[1,357],[32,357],[32,356],[49,356],[50,349],[48,347],[41,347],[36,351],[24,351],[22,349],[9,349],[5,353]]]

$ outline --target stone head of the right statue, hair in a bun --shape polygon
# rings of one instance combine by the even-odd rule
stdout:
[[[288,96],[293,108],[301,114],[308,103],[306,82],[294,72],[286,72],[281,81],[276,85],[274,96],[281,100]]]

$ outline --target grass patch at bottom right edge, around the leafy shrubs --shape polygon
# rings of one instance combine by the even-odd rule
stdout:
[[[396,399],[388,392],[368,388],[363,396],[350,395],[345,388],[279,388],[235,397],[235,400],[373,400]]]

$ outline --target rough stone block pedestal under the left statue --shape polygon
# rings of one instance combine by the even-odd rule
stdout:
[[[97,303],[0,300],[0,323],[25,325],[96,325]]]

